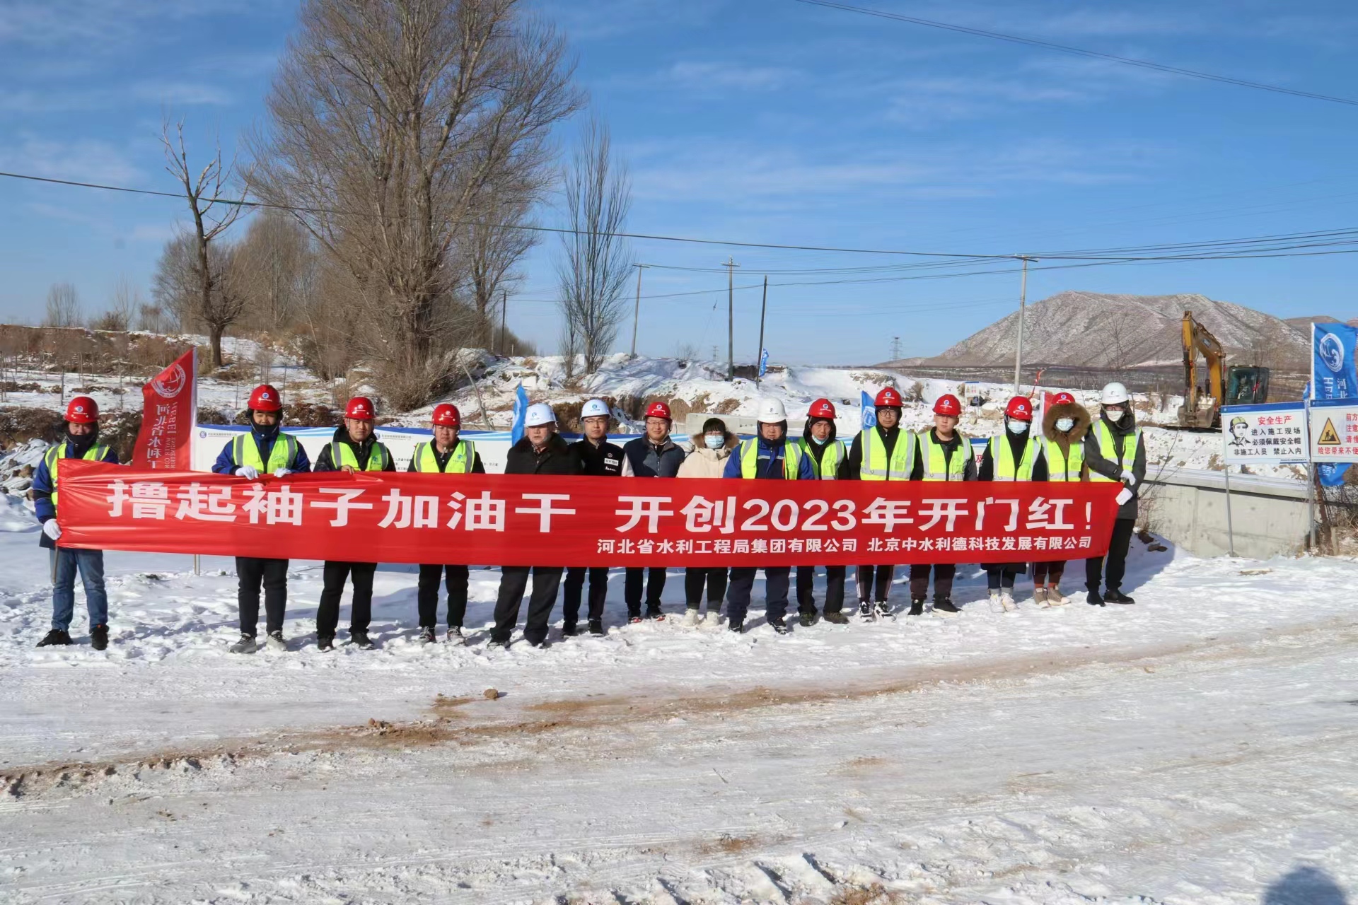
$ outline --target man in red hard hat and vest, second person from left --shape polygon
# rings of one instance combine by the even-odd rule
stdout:
[[[250,430],[227,442],[212,465],[219,475],[236,475],[255,480],[263,474],[287,478],[311,471],[311,460],[296,437],[282,433],[282,398],[269,384],[250,392],[246,408]],[[265,631],[270,650],[288,650],[282,639],[282,617],[288,608],[288,560],[262,556],[236,556],[236,605],[240,611],[240,639],[231,646],[234,654],[258,650],[259,586],[263,585]]]

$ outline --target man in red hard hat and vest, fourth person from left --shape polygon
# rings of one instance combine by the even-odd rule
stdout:
[[[433,407],[433,442],[416,444],[410,457],[410,471],[439,475],[483,475],[481,453],[470,440],[459,437],[462,412],[451,403]],[[456,556],[449,556],[455,559]],[[448,643],[464,644],[462,620],[467,616],[467,563],[441,566],[437,563],[420,566],[420,640],[435,643],[439,628],[439,579],[448,586]]]

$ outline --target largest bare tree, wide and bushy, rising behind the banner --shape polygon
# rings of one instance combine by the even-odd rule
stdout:
[[[445,379],[477,323],[458,296],[466,224],[497,186],[542,179],[553,125],[580,106],[564,41],[520,5],[304,0],[250,140],[257,194],[348,273],[349,341],[410,387],[397,404]]]

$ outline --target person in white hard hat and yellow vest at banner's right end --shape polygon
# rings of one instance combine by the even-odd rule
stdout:
[[[1137,491],[1146,478],[1146,441],[1137,426],[1127,388],[1111,383],[1100,395],[1099,418],[1093,429],[1085,434],[1085,463],[1089,465],[1092,482],[1122,482],[1118,494],[1118,518],[1112,524],[1112,539],[1105,556],[1092,556],[1085,560],[1085,598],[1090,606],[1104,602],[1134,604],[1122,593],[1122,578],[1127,571],[1127,547],[1131,544],[1133,528],[1137,524]],[[1107,559],[1107,569],[1104,560]],[[1099,593],[1099,585],[1105,590]]]

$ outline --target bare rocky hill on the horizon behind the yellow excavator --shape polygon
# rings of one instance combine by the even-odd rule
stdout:
[[[1287,368],[1304,362],[1309,327],[1229,301],[1198,294],[1122,296],[1062,292],[1028,305],[1024,360],[1033,364],[1131,368],[1183,361],[1180,327],[1184,311],[1210,330],[1230,358]],[[963,339],[929,365],[997,365],[1012,362],[1019,312]]]

